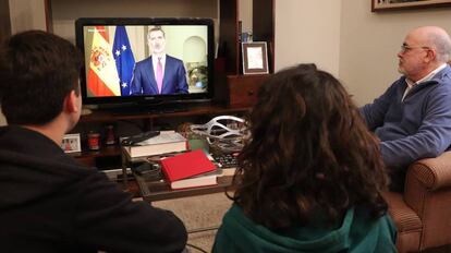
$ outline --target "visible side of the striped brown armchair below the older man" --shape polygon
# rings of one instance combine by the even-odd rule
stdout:
[[[423,224],[419,250],[451,243],[451,152],[415,161],[403,198]]]

